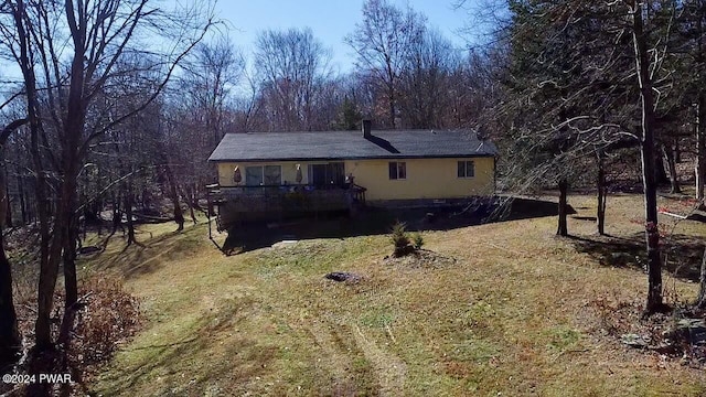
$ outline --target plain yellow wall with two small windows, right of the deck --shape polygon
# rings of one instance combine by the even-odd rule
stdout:
[[[407,179],[391,180],[388,163],[407,163]],[[474,176],[458,178],[458,161],[473,161]],[[493,158],[350,160],[345,174],[367,189],[367,201],[461,198],[495,192]]]

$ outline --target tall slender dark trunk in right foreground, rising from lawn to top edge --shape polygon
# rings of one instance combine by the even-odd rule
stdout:
[[[645,313],[662,309],[662,260],[660,257],[660,232],[657,227],[657,189],[655,183],[654,148],[654,98],[650,77],[650,58],[646,34],[642,21],[642,3],[633,1],[633,31],[638,84],[642,99],[642,181],[645,205],[645,240],[648,248],[648,301]]]

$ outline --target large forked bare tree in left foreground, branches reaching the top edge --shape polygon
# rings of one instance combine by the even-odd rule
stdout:
[[[45,162],[52,163],[60,176],[55,182],[56,212],[49,233],[49,216],[43,217],[42,260],[39,285],[39,310],[35,325],[36,350],[53,345],[50,313],[58,275],[58,264],[64,250],[72,250],[76,223],[77,178],[90,143],[114,126],[140,111],[153,100],[176,65],[203,37],[211,24],[210,6],[199,4],[183,9],[181,14],[164,12],[148,0],[95,0],[30,2],[8,0],[6,13],[0,15],[0,34],[7,51],[22,69],[28,101],[28,119],[32,131],[34,170],[44,175]],[[171,49],[149,51],[141,37],[157,35],[171,43]],[[66,47],[60,51],[62,41]],[[160,40],[153,40],[160,42]],[[161,55],[152,55],[161,53]],[[97,114],[96,98],[120,71],[116,64],[126,54],[142,54],[147,67],[159,72],[156,79],[143,82],[151,87],[151,95],[122,114]],[[35,67],[39,66],[39,67]],[[34,71],[40,73],[40,78]],[[41,88],[41,97],[38,94]],[[40,106],[44,101],[45,105]],[[40,117],[39,109],[46,109]],[[54,132],[51,139],[43,136]],[[55,142],[50,148],[43,143]],[[44,176],[40,176],[44,178]],[[39,180],[40,189],[45,181]],[[38,191],[40,208],[45,193]],[[73,312],[77,299],[74,266],[64,267],[66,310]],[[69,315],[67,321],[73,321]]]

